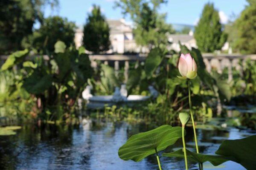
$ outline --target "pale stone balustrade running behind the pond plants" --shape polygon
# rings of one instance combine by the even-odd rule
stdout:
[[[2,65],[7,59],[7,55],[0,55],[0,65]],[[37,56],[34,56],[37,57]],[[47,55],[43,56],[45,60],[49,59]],[[91,66],[97,68],[97,61],[101,61],[105,65],[111,65],[118,74],[121,66],[124,67],[125,80],[128,79],[129,62],[144,62],[146,59],[145,54],[140,55],[89,55],[91,60]],[[172,57],[172,56],[168,56]],[[245,62],[246,59],[256,60],[256,54],[242,55],[242,54],[203,54],[204,63],[208,72],[212,68],[216,68],[219,73],[224,68],[228,68],[229,80],[232,79],[232,68],[237,70],[241,69],[238,64],[239,61]]]

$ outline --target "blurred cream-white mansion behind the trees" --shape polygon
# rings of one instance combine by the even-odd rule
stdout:
[[[124,52],[148,52],[147,48],[142,48],[136,44],[134,35],[132,33],[132,26],[126,23],[124,19],[107,20],[107,22],[110,27],[111,41],[111,47],[107,53],[122,54]],[[192,47],[197,47],[192,31],[190,31],[189,34],[170,34],[168,39],[169,42],[171,42],[169,49],[173,49],[175,51],[180,51],[179,41],[182,45],[186,45],[190,49]],[[77,48],[82,45],[82,40],[83,30],[78,28],[75,35],[75,43]],[[229,45],[226,43],[222,50],[228,50],[228,48]]]

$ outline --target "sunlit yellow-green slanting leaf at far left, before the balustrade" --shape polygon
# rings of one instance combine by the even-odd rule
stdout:
[[[6,62],[2,65],[1,70],[3,71],[9,68],[12,68],[15,64],[18,64],[19,62],[21,62],[28,53],[29,53],[28,49],[25,49],[23,51],[16,51],[15,53],[12,53],[6,59]]]

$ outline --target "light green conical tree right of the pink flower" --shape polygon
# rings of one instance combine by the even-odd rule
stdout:
[[[203,52],[220,50],[226,42],[227,34],[222,31],[218,10],[214,8],[213,3],[204,6],[194,35],[198,49]]]

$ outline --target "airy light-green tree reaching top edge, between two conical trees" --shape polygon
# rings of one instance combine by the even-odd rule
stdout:
[[[165,22],[165,14],[158,14],[157,9],[166,0],[120,0],[116,6],[122,8],[123,14],[130,14],[134,21],[134,37],[138,45],[149,49],[167,45],[167,34],[175,31]]]

